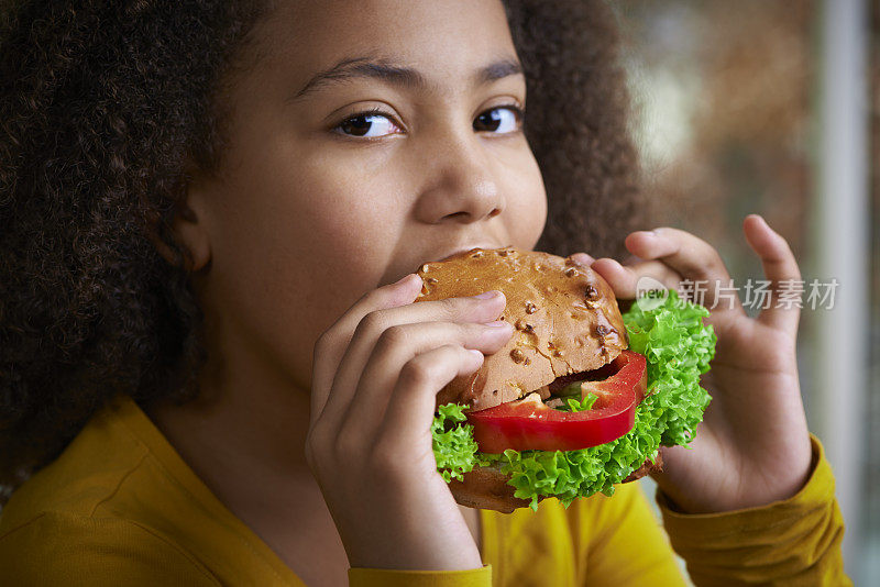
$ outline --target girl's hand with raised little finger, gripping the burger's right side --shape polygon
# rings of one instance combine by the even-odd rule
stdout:
[[[806,481],[811,466],[795,361],[800,308],[777,308],[779,283],[800,280],[798,263],[785,240],[765,220],[750,214],[746,240],[772,281],[768,308],[750,319],[739,301],[716,302],[717,284],[729,285],[718,253],[705,241],[676,229],[629,234],[626,247],[638,257],[623,266],[609,258],[592,262],[622,299],[636,296],[640,277],[659,279],[678,289],[679,281],[708,281],[703,302],[706,322],[718,337],[711,370],[703,385],[712,394],[705,419],[691,448],[663,447],[660,488],[689,512],[712,512],[762,506],[787,499]],[[583,255],[583,256],[581,256]],[[575,257],[578,258],[578,257]]]

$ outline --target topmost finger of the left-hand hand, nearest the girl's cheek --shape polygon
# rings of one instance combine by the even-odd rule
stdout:
[[[413,303],[421,291],[421,277],[409,274],[400,280],[376,288],[358,300],[315,343],[311,361],[310,423],[327,403],[333,377],[358,323],[371,311]]]

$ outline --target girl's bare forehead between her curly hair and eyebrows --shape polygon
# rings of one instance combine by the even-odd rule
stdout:
[[[442,85],[516,56],[501,0],[292,0],[254,33],[264,73],[295,87],[345,59],[394,62]]]

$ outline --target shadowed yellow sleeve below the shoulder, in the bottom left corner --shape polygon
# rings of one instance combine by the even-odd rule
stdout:
[[[122,519],[46,511],[0,536],[0,583],[219,586],[198,561],[150,529]]]

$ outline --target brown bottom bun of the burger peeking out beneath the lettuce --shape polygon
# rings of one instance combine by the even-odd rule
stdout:
[[[647,458],[642,465],[629,474],[623,483],[635,481],[649,473],[659,473],[663,468],[663,459],[657,453],[657,461],[651,462]],[[507,485],[509,477],[502,473],[501,465],[495,464],[488,467],[477,467],[464,474],[464,480],[452,479],[449,488],[452,496],[462,506],[477,508],[482,510],[496,510],[502,513],[510,513],[517,508],[526,508],[530,503],[528,499],[514,497],[514,487]],[[543,499],[542,497],[538,498]]]

